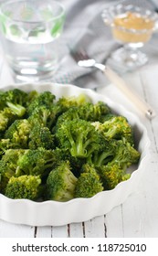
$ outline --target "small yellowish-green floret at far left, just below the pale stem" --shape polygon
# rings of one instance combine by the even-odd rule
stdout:
[[[26,119],[16,120],[5,131],[5,139],[9,139],[16,148],[27,148],[31,125]]]

